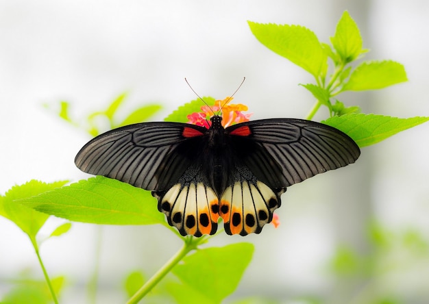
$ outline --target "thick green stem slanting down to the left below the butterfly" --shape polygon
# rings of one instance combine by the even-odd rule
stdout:
[[[143,296],[145,296],[148,292],[151,291],[152,288],[156,286],[164,277],[167,275],[167,273],[170,272],[173,267],[180,262],[190,251],[193,251],[197,248],[197,245],[204,239],[204,237],[201,237],[197,240],[195,240],[193,237],[191,238],[185,238],[185,243],[183,247],[180,249],[180,251],[177,251],[169,261],[158,270],[158,272],[153,275],[149,281],[147,281],[131,298],[128,300],[127,304],[136,304],[138,301],[143,299]]]

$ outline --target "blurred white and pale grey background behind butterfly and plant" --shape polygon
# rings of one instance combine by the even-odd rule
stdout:
[[[358,23],[367,60],[404,64],[409,81],[341,95],[363,112],[429,116],[429,2],[425,0],[1,0],[0,192],[29,179],[77,181],[73,159],[90,137],[56,115],[59,101],[84,121],[128,92],[123,116],[161,103],[160,120],[201,96],[235,101],[253,118],[304,118],[312,81],[252,36],[247,20],[304,25],[328,42],[342,12]],[[44,106],[48,105],[48,106]],[[326,118],[321,110],[315,119]],[[256,246],[234,301],[427,303],[429,299],[429,125],[366,147],[358,162],[288,189],[281,225],[258,236],[217,236],[210,245]],[[45,233],[62,223],[50,219]],[[42,231],[43,236],[44,231]],[[97,257],[97,247],[101,253]],[[181,246],[163,227],[95,227],[42,244],[51,276],[65,275],[62,303],[86,303],[99,263],[97,303],[122,303],[132,270],[154,273]],[[27,237],[0,218],[0,299],[11,279],[42,278]],[[228,275],[228,274],[225,274]]]

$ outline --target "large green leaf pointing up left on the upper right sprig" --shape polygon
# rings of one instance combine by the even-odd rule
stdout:
[[[326,75],[328,55],[315,33],[299,25],[262,24],[247,21],[256,38],[271,49],[301,66],[315,77]]]

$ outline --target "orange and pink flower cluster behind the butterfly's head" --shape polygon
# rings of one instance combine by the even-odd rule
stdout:
[[[234,125],[235,123],[244,123],[249,121],[250,114],[243,114],[242,111],[247,111],[247,106],[238,104],[228,105],[232,101],[232,97],[226,97],[223,100],[215,101],[215,105],[209,107],[208,105],[203,105],[201,107],[202,112],[195,112],[188,115],[188,123],[193,125],[200,125],[206,128],[210,127],[209,119],[215,113],[221,112],[222,116],[222,125],[223,127],[228,127]]]

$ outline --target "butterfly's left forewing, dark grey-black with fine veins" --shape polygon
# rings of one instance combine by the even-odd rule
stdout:
[[[185,128],[206,131],[204,127],[182,123],[128,125],[90,140],[77,153],[75,164],[86,173],[119,179],[146,190],[165,190],[193,163],[196,152],[192,140],[183,136]]]

